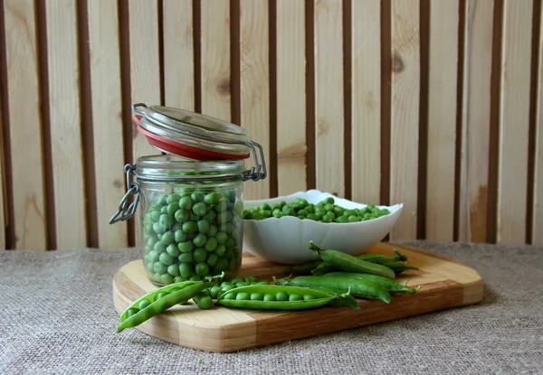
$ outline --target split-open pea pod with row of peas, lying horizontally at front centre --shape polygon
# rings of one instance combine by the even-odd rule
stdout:
[[[269,298],[266,296],[269,295]],[[280,298],[281,295],[281,298]],[[240,286],[219,296],[215,305],[254,310],[309,310],[347,298],[350,292],[337,295],[297,286]]]

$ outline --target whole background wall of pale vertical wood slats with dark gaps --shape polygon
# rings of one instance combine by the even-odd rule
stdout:
[[[541,0],[0,0],[0,248],[119,248],[130,104],[248,129],[269,178],[390,239],[543,245]]]

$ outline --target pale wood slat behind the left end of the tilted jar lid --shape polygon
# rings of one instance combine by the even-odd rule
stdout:
[[[160,105],[160,63],[158,61],[158,6],[156,2],[135,2],[129,5],[130,94],[133,103]],[[133,122],[132,160],[139,156],[158,155],[146,136]],[[134,215],[135,244],[141,244],[139,214]]]

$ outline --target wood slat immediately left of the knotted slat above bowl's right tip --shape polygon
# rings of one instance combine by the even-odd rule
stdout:
[[[351,2],[351,192],[353,201],[373,204],[381,194],[380,3]]]

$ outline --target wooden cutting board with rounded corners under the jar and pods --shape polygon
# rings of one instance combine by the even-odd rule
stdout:
[[[451,258],[389,243],[379,243],[366,252],[392,255],[393,248],[408,257],[410,266],[420,268],[405,271],[396,281],[405,284],[409,280],[409,286],[421,289],[416,295],[393,296],[388,305],[358,300],[361,310],[321,307],[298,312],[264,312],[221,306],[199,310],[191,301],[132,329],[188,348],[235,352],[481,302],[483,284],[479,274]],[[246,253],[239,276],[271,280],[272,276],[286,276],[287,267]],[[129,262],[113,278],[115,309],[122,313],[138,296],[154,288],[144,274],[142,261]]]

